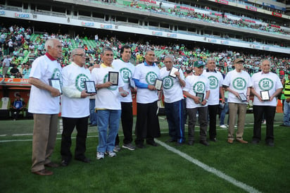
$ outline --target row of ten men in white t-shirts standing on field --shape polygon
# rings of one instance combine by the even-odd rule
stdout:
[[[82,49],[74,49],[71,53],[72,62],[61,69],[57,59],[62,54],[61,42],[58,39],[46,41],[46,54],[32,63],[29,82],[32,84],[30,106],[28,111],[34,115],[34,132],[32,143],[32,173],[52,175],[45,167],[58,167],[50,161],[56,141],[57,121],[60,97],[62,95],[63,133],[61,139],[61,166],[68,166],[73,154],[70,151],[71,135],[77,129],[75,160],[89,163],[86,151],[87,123],[89,118],[89,97],[95,96],[95,109],[98,113],[97,125],[99,144],[96,147],[96,159],[116,156],[120,151],[118,137],[121,120],[124,140],[122,148],[134,150],[132,145],[132,92],[137,91],[137,121],[134,143],[140,149],[146,144],[158,146],[154,141],[160,137],[158,121],[158,101],[164,96],[165,115],[168,120],[170,139],[180,146],[185,142],[185,113],[189,118],[188,144],[195,141],[194,127],[198,115],[200,125],[199,142],[208,146],[207,126],[209,120],[209,139],[217,141],[216,116],[220,104],[225,103],[224,89],[229,91],[229,132],[227,142],[233,143],[234,125],[238,117],[236,140],[243,144],[246,106],[250,92],[255,95],[253,103],[254,132],[253,143],[260,142],[260,123],[263,115],[267,123],[266,143],[274,145],[273,120],[275,117],[276,96],[281,92],[282,85],[277,75],[270,73],[270,61],[260,63],[262,72],[251,78],[244,72],[242,58],[234,61],[235,70],[229,72],[223,80],[216,71],[214,58],[208,58],[207,69],[203,61],[194,63],[193,75],[184,78],[180,68],[173,66],[174,58],[165,56],[165,67],[159,69],[155,63],[154,51],[146,51],[144,63],[133,66],[130,63],[131,48],[122,46],[120,59],[113,60],[113,50],[103,48],[103,63],[96,68],[85,68],[85,53]],[[174,69],[175,68],[175,69]],[[110,73],[118,73],[118,83],[110,82]],[[49,82],[56,79],[61,89],[56,89]],[[160,80],[162,86],[156,82]],[[88,93],[84,87],[86,81],[94,81],[96,93]],[[263,98],[260,95],[263,92]],[[62,93],[61,93],[62,92]],[[265,99],[265,93],[269,99]],[[186,99],[184,100],[184,96]],[[267,96],[266,96],[267,97]],[[220,101],[221,98],[221,101]],[[186,108],[186,111],[185,111]],[[209,119],[208,119],[209,116]]]

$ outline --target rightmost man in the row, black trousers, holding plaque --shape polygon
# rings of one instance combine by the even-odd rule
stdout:
[[[271,62],[268,59],[260,61],[259,73],[253,74],[253,87],[251,92],[255,95],[253,100],[253,144],[261,139],[261,124],[263,114],[266,120],[266,144],[274,146],[274,118],[277,106],[277,95],[282,92],[282,83],[275,73],[270,72]]]

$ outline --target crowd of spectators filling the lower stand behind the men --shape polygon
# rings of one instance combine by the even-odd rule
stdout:
[[[61,66],[67,66],[70,63],[70,51],[76,47],[84,49],[87,59],[87,66],[93,66],[95,63],[101,63],[101,51],[103,47],[109,46],[115,52],[115,58],[120,56],[118,51],[124,44],[132,47],[131,62],[137,65],[144,61],[144,52],[146,50],[156,51],[156,63],[161,68],[164,66],[163,59],[166,54],[175,56],[175,66],[179,66],[185,72],[191,70],[194,61],[206,61],[208,57],[213,57],[217,61],[218,69],[226,74],[232,70],[232,62],[235,58],[243,57],[245,60],[245,70],[250,74],[258,72],[259,62],[262,58],[268,58],[272,61],[272,72],[283,77],[290,70],[290,58],[277,57],[265,54],[248,54],[239,51],[209,51],[205,47],[187,47],[184,44],[150,44],[149,42],[121,42],[116,37],[89,39],[88,37],[70,37],[70,35],[48,34],[33,35],[30,27],[24,29],[17,25],[1,28],[0,56],[1,65],[4,58],[10,58],[11,70],[6,77],[28,78],[32,61],[35,58],[45,54],[44,42],[50,37],[61,39],[63,44],[63,56],[60,58]],[[32,39],[33,37],[33,39]],[[10,43],[11,42],[11,43]],[[90,45],[87,44],[90,42]],[[9,46],[12,44],[12,48]],[[237,49],[238,50],[238,49]],[[9,57],[7,57],[9,56]],[[11,57],[10,57],[11,56]],[[25,60],[26,59],[26,60]],[[15,66],[14,68],[12,68]],[[18,70],[15,70],[15,68]],[[1,68],[0,68],[1,70]]]

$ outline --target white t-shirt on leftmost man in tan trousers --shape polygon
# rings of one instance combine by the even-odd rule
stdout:
[[[30,77],[37,78],[49,85],[49,79],[60,79],[61,65],[58,61],[51,61],[46,55],[36,58],[32,63]],[[59,113],[60,97],[52,97],[46,89],[31,86],[28,111],[30,113],[57,114]]]

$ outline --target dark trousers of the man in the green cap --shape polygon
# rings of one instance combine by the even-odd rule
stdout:
[[[201,141],[206,141],[206,130],[208,127],[208,106],[187,108],[189,116],[189,141],[194,142],[194,128],[196,126],[196,113],[198,112],[198,123],[200,127],[199,136]]]

